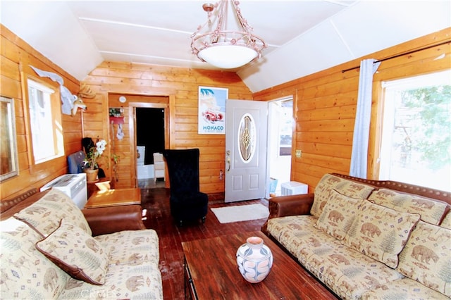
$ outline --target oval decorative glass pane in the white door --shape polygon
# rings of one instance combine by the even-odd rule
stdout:
[[[238,125],[238,147],[242,161],[248,163],[255,153],[255,140],[257,139],[254,118],[249,113],[242,116]]]

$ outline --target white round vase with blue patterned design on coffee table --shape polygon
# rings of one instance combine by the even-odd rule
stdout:
[[[273,266],[273,254],[261,237],[249,237],[237,250],[237,265],[248,282],[261,282]]]

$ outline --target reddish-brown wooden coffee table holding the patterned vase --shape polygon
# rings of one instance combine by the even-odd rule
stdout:
[[[271,272],[259,283],[249,283],[242,277],[235,256],[238,247],[252,236],[263,238],[273,253]],[[185,298],[338,299],[263,232],[199,239],[183,242],[182,246]]]

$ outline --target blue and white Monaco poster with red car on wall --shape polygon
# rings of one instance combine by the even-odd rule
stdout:
[[[226,134],[226,99],[228,89],[199,87],[199,135]]]

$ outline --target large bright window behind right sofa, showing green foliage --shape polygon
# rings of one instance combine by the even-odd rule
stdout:
[[[383,82],[380,180],[451,191],[451,70]]]

